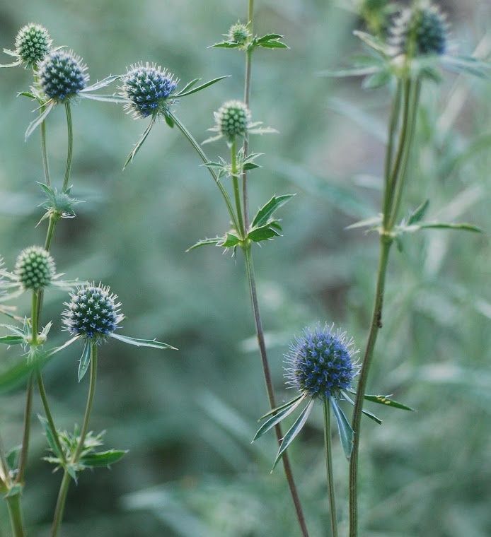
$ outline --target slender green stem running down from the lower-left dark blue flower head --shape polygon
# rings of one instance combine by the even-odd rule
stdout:
[[[85,441],[87,431],[88,431],[88,422],[91,418],[92,403],[94,399],[94,393],[96,391],[96,380],[97,380],[97,344],[91,343],[91,382],[88,386],[88,396],[85,414],[83,415],[83,423],[80,431],[79,443],[76,446],[74,455],[71,457],[69,464],[76,464],[79,462],[81,452],[83,450],[83,442]],[[65,468],[62,483],[59,486],[57,505],[54,509],[54,518],[51,528],[51,537],[57,537],[59,528],[62,525],[63,513],[65,508],[65,503],[67,502],[68,489],[70,486],[70,476]]]

